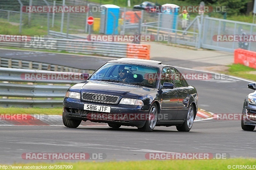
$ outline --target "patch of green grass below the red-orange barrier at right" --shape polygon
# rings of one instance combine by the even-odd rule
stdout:
[[[229,69],[228,71],[224,72],[225,74],[256,81],[256,75],[248,73],[250,71],[256,71],[256,69],[244,66],[242,64],[232,64],[232,65],[228,65],[228,67]]]

